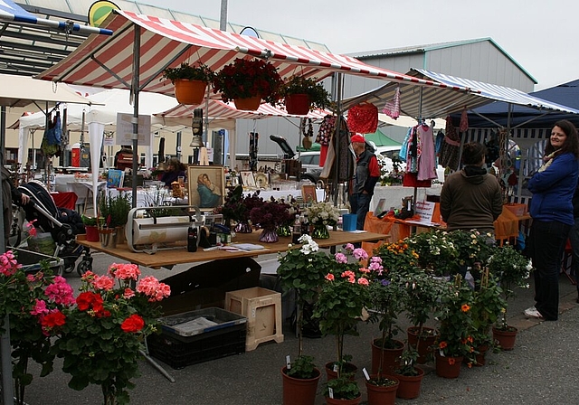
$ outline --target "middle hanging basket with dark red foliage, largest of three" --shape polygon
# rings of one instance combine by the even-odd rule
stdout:
[[[215,74],[213,86],[223,102],[233,100],[238,109],[256,110],[261,99],[277,103],[281,82],[278,69],[269,61],[237,58]]]

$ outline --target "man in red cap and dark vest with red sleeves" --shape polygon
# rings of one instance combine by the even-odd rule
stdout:
[[[356,230],[362,231],[374,187],[380,178],[380,167],[374,153],[366,148],[364,137],[356,134],[350,141],[356,153],[356,173],[350,182],[350,208],[357,215]]]

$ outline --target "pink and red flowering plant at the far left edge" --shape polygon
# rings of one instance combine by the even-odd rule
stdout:
[[[32,272],[24,270],[12,250],[0,255],[0,334],[8,316],[17,404],[24,403],[24,390],[33,381],[29,360],[42,365],[41,376],[52,372],[48,329],[62,325],[61,310],[73,303],[71,286],[64,278],[54,277],[47,262],[41,261],[40,271]]]

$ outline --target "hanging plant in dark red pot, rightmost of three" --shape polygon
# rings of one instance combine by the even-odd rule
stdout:
[[[330,95],[315,78],[302,75],[291,76],[280,88],[286,110],[289,114],[306,115],[311,108],[328,108]]]

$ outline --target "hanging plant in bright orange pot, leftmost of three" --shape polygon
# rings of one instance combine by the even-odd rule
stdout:
[[[176,68],[166,68],[163,78],[175,85],[175,97],[179,103],[198,105],[203,102],[207,84],[214,80],[214,71],[202,62],[195,66],[184,61]]]

